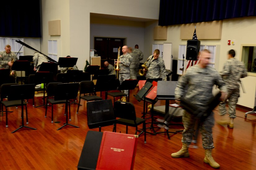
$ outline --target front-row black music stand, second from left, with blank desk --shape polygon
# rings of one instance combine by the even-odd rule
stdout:
[[[66,125],[70,125],[76,128],[79,128],[79,126],[71,125],[68,123],[68,104],[69,104],[69,99],[74,99],[77,97],[79,89],[79,83],[61,83],[57,85],[57,91],[54,96],[54,100],[66,100],[65,102],[65,115],[66,115],[66,123],[58,128],[57,130],[60,130]],[[70,114],[70,113],[69,113]]]

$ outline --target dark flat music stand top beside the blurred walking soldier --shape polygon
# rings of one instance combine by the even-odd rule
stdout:
[[[175,99],[175,88],[177,87],[178,81],[158,81],[157,82],[157,98],[159,100],[166,99]]]

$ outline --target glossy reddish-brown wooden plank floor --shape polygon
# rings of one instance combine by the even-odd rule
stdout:
[[[137,87],[131,94],[137,94]],[[141,117],[143,102],[130,97],[136,107],[137,116]],[[41,97],[35,98],[36,105],[42,104]],[[77,105],[71,106],[70,124],[80,128],[65,126],[57,130],[65,123],[62,104],[54,107],[54,122],[51,123],[51,109],[48,110],[47,118],[44,117],[45,108],[32,107],[32,101],[28,103],[29,124],[37,128],[31,130],[21,128],[17,132],[11,132],[21,125],[20,108],[8,114],[9,127],[5,127],[5,114],[0,117],[0,169],[77,169],[77,164],[82,151],[83,143],[88,132],[86,117],[86,102],[76,113]],[[158,101],[156,105],[164,105],[164,101]],[[256,115],[250,114],[244,119],[245,110],[237,109],[237,118],[234,121],[234,129],[215,123],[213,127],[213,158],[220,164],[220,169],[256,169]],[[218,108],[214,110],[218,116]],[[157,116],[161,118],[161,116]],[[60,123],[57,123],[59,121]],[[149,121],[149,120],[148,120]],[[181,127],[173,126],[171,131],[182,130]],[[98,129],[92,129],[98,131]],[[103,127],[102,131],[112,131],[112,126]],[[151,131],[151,130],[148,130]],[[163,129],[157,130],[163,131]],[[125,133],[125,127],[117,125],[117,132]],[[129,128],[133,134],[134,128]],[[173,152],[180,150],[182,134],[177,133],[168,140],[166,134],[147,134],[147,143],[144,144],[143,136],[139,137],[135,158],[135,170],[141,169],[210,169],[209,164],[203,162],[204,149],[199,140],[198,149],[190,148],[190,157],[172,158]]]

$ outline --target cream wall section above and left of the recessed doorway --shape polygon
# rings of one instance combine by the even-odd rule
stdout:
[[[79,56],[77,62],[79,70],[83,70],[85,60],[89,60],[90,32],[93,32],[90,30],[90,13],[158,19],[159,0],[70,0],[70,53]],[[132,34],[129,33],[129,36]],[[129,39],[127,43],[130,46],[134,44]]]

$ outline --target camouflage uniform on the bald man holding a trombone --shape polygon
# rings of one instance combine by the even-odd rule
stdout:
[[[132,57],[130,54],[125,54],[125,55],[121,55],[119,57],[119,81],[120,84],[122,84],[122,82],[124,80],[130,79],[130,64],[132,61]],[[122,90],[123,93],[128,95],[128,90]]]

